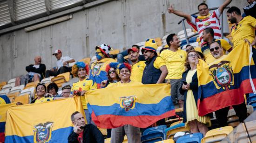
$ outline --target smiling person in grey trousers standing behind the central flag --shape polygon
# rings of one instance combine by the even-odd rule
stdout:
[[[107,88],[140,85],[141,84],[140,82],[132,81],[130,79],[131,66],[126,63],[121,64],[119,66],[119,77],[121,78],[121,80],[119,82],[109,84],[107,86]],[[140,128],[134,127],[132,125],[124,125],[122,127],[112,129],[111,130],[111,143],[122,143],[125,135],[128,138],[128,143],[141,143]]]

